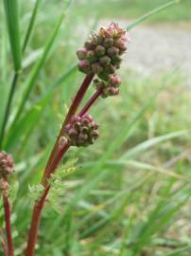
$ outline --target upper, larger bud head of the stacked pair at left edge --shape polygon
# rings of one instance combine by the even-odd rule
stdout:
[[[6,152],[0,152],[0,177],[7,177],[13,173],[14,162],[12,156]]]

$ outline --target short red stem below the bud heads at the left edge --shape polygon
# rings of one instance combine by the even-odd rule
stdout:
[[[10,225],[11,210],[10,210],[9,199],[7,196],[3,196],[3,202],[4,202],[4,210],[5,210],[6,232],[7,232],[9,256],[13,256],[14,255],[14,247],[13,247],[13,243],[12,243],[11,225]]]

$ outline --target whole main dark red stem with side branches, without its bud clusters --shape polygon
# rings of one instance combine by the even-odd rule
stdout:
[[[41,222],[42,210],[43,210],[43,206],[44,206],[44,203],[45,203],[46,196],[47,196],[47,194],[50,190],[50,186],[48,184],[48,178],[50,177],[51,174],[53,174],[56,171],[58,165],[61,162],[62,156],[70,148],[70,143],[67,143],[60,150],[59,147],[58,147],[59,139],[60,139],[61,136],[64,135],[65,125],[76,114],[76,112],[78,110],[78,106],[79,106],[80,102],[82,101],[82,99],[83,99],[90,83],[92,82],[93,78],[94,78],[94,74],[87,75],[85,77],[84,81],[82,82],[80,88],[78,89],[78,93],[77,93],[74,101],[72,102],[72,105],[71,105],[71,107],[68,111],[68,114],[67,114],[67,116],[64,119],[64,122],[62,124],[60,135],[57,138],[57,140],[55,142],[55,145],[54,145],[54,148],[51,152],[51,155],[49,156],[49,159],[47,161],[45,170],[43,172],[43,179],[42,179],[42,184],[44,186],[44,191],[43,191],[42,197],[40,198],[40,200],[38,202],[36,202],[36,204],[34,206],[34,210],[33,210],[33,214],[32,214],[32,220],[31,220],[31,224],[30,224],[30,230],[29,230],[29,234],[28,234],[28,240],[27,240],[26,256],[33,256],[34,255],[35,245],[36,245],[37,235],[38,235],[38,229],[39,229],[40,222]],[[101,92],[97,91],[96,94],[91,98],[90,101],[88,101],[88,103],[86,104],[86,106],[83,109],[88,110],[90,108],[90,106],[96,101],[96,99],[98,98],[100,93]]]

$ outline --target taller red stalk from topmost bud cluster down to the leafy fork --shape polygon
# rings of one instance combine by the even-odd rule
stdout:
[[[64,135],[64,129],[65,129],[65,125],[70,121],[70,119],[76,114],[77,110],[78,110],[78,106],[80,104],[80,102],[82,101],[90,83],[92,82],[94,78],[94,74],[89,74],[85,77],[84,81],[82,82],[81,86],[79,87],[78,89],[78,93],[74,99],[74,101],[72,102],[72,105],[67,113],[67,116],[66,118],[64,119],[64,122],[62,124],[62,127],[61,127],[61,132],[60,132],[60,135],[58,137],[58,139],[56,140],[55,142],[55,145],[53,147],[53,150],[49,156],[49,159],[47,161],[47,164],[46,164],[46,167],[45,167],[45,170],[43,172],[43,185],[46,184],[46,179],[47,177],[49,176],[49,174],[51,174],[51,172],[54,170],[54,165],[52,164],[54,162],[54,159],[57,155],[57,152],[58,152],[58,141],[60,139],[61,136]]]

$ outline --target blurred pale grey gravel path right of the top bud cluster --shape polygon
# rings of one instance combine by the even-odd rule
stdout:
[[[177,27],[135,27],[127,66],[142,75],[167,71],[180,66],[191,81],[191,29]]]

